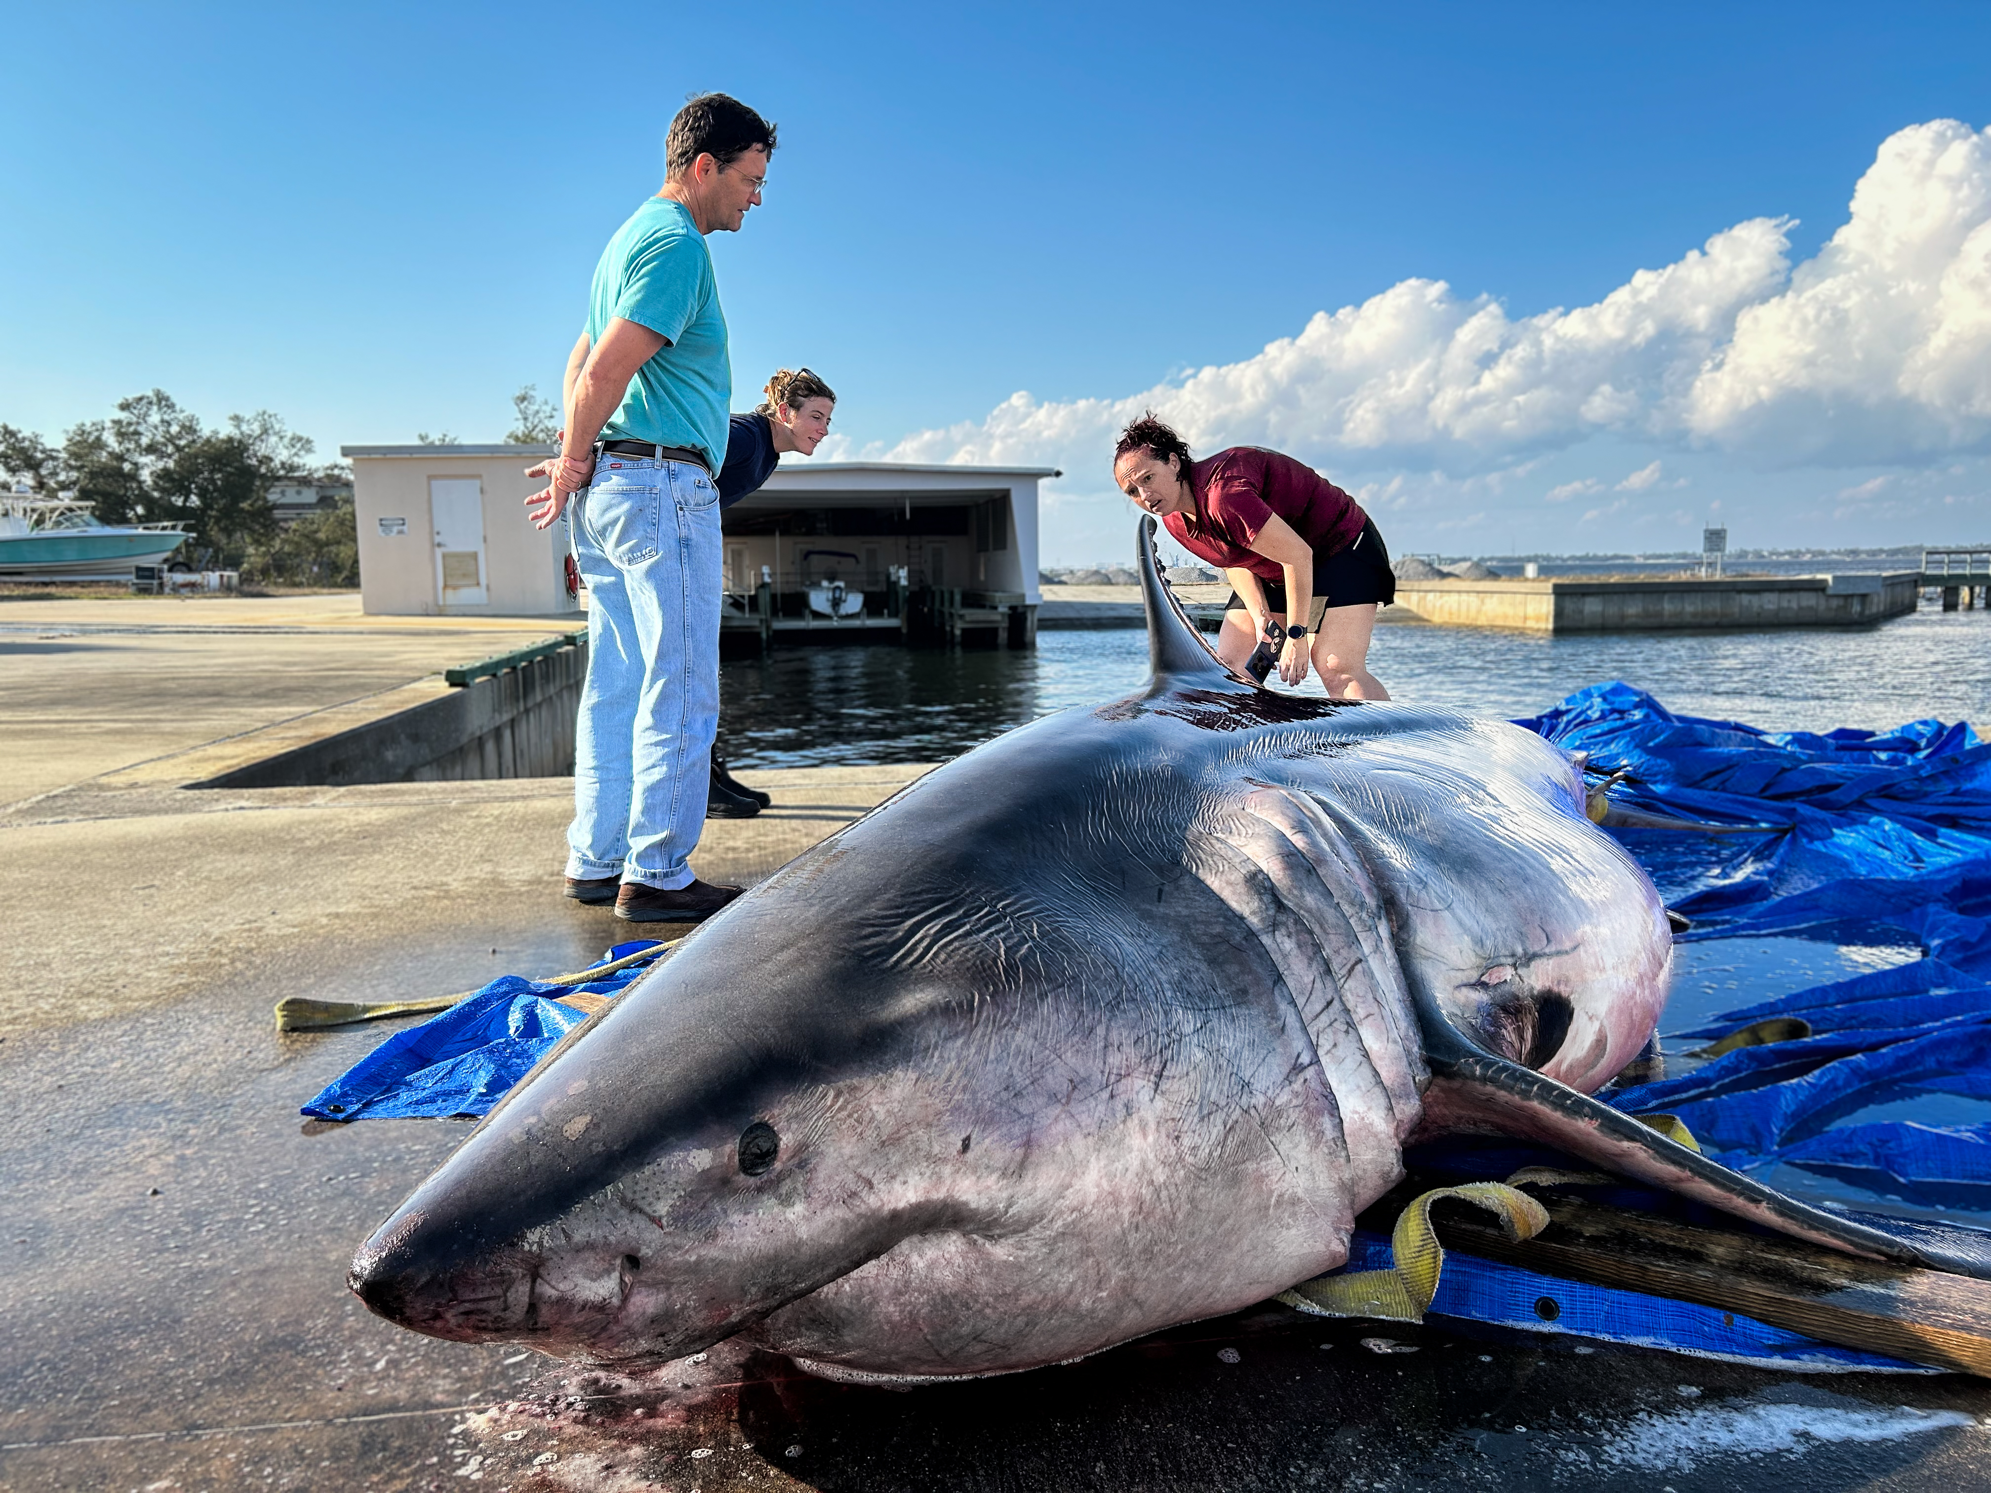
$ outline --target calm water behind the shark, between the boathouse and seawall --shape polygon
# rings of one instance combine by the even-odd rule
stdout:
[[[1921,611],[1876,629],[1531,637],[1376,629],[1370,669],[1402,701],[1521,717],[1623,679],[1684,715],[1772,731],[1991,725],[1991,613]],[[790,647],[727,661],[721,750],[741,766],[936,762],[1071,705],[1135,691],[1147,635],[1047,631],[1035,653]],[[1308,681],[1302,693],[1318,693]]]

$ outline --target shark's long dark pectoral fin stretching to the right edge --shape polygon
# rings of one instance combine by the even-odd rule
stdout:
[[[1463,1043],[1459,1043],[1463,1047]],[[1951,1274],[1991,1278],[1991,1266],[1965,1256],[1943,1256],[1878,1228],[1856,1224],[1822,1208],[1732,1173],[1698,1151],[1668,1141],[1641,1121],[1569,1085],[1477,1051],[1430,1053],[1428,1113],[1439,1123],[1473,1123],[1567,1151],[1609,1167],[1621,1176],[1662,1186],[1712,1208],[1774,1228],[1780,1234],[1824,1244],[1872,1260],[1919,1264]]]

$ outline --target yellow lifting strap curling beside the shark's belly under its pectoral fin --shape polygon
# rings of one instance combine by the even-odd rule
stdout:
[[[1668,1141],[1700,1151],[1692,1133],[1678,1115],[1635,1115]],[[1438,1278],[1445,1268],[1445,1250],[1432,1228],[1432,1204],[1439,1198],[1461,1198],[1473,1202],[1495,1218],[1507,1238],[1521,1242],[1535,1238],[1549,1226],[1549,1212],[1521,1186],[1595,1184],[1613,1178],[1597,1173],[1563,1173],[1551,1167],[1523,1167],[1505,1182],[1461,1182],[1459,1186],[1436,1186],[1420,1192],[1410,1206],[1396,1216],[1390,1230],[1388,1270],[1336,1272],[1302,1280],[1292,1290],[1282,1290],[1272,1300],[1294,1306],[1314,1316],[1370,1316],[1384,1322],[1424,1322],[1426,1310],[1438,1296]]]

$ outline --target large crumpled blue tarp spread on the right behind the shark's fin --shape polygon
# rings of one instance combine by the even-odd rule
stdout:
[[[1738,1171],[1790,1165],[1921,1206],[1985,1208],[1991,1109],[1969,1125],[1854,1117],[1899,1101],[1991,1101],[1991,746],[1941,721],[1772,735],[1676,717],[1621,683],[1521,725],[1629,772],[1615,796],[1635,808],[1776,826],[1617,832],[1696,920],[1684,940],[1802,936],[1921,952],[1702,1021],[1678,1035],[1716,1037],[1772,1015],[1802,1017],[1812,1035],[1742,1047],[1611,1103],[1678,1115]]]

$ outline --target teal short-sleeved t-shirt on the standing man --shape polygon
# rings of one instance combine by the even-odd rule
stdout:
[[[587,340],[599,342],[615,317],[671,340],[637,368],[601,438],[691,446],[717,474],[727,460],[733,362],[713,257],[683,203],[651,197],[601,251]]]

